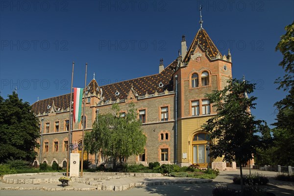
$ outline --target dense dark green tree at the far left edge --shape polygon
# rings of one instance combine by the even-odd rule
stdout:
[[[13,92],[7,99],[0,96],[0,163],[8,159],[32,161],[39,147],[39,121],[28,102]]]

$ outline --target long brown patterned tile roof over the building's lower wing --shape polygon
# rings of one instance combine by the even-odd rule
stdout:
[[[127,97],[131,88],[135,91],[138,96],[143,96],[149,94],[163,93],[165,90],[173,91],[173,77],[174,68],[177,65],[177,60],[173,61],[168,67],[166,67],[161,73],[154,75],[148,75],[144,77],[139,77],[135,79],[125,80],[118,83],[108,84],[105,86],[98,87],[97,81],[95,79],[91,80],[86,88],[90,94],[98,95],[102,91],[103,101],[106,100],[117,100],[124,99]],[[161,84],[159,86],[159,84]],[[116,92],[119,92],[116,93]],[[39,113],[48,113],[50,108],[54,103],[56,110],[60,108],[66,110],[70,107],[71,94],[61,95],[53,98],[47,98],[43,100],[36,101],[32,104],[32,109],[36,115]]]

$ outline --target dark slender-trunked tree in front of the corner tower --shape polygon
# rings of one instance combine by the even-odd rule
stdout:
[[[247,93],[252,93],[254,89],[255,84],[230,78],[223,90],[206,94],[213,107],[217,108],[217,115],[203,125],[203,130],[209,132],[214,141],[209,156],[223,157],[223,160],[236,161],[240,165],[242,191],[242,165],[253,158],[257,147],[265,147],[257,133],[267,135],[269,131],[263,121],[255,120],[250,114],[250,109],[255,108],[253,101],[256,98],[248,98]]]

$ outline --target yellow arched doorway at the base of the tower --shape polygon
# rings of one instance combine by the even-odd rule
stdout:
[[[208,163],[211,165],[209,151],[206,149],[207,142],[211,144],[211,139],[203,132],[195,134],[192,140],[193,164],[198,164],[202,168],[207,167]]]

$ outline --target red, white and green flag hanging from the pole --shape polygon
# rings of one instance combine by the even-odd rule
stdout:
[[[81,121],[83,88],[73,88],[73,122]]]

